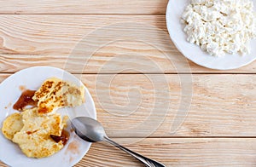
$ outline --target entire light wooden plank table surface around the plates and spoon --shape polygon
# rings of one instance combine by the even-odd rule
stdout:
[[[98,120],[125,147],[166,166],[256,165],[256,62],[215,71],[186,61],[168,37],[166,4],[1,1],[0,79],[30,66],[63,68],[81,77]],[[131,37],[122,38],[125,26]],[[140,165],[96,143],[75,166]]]

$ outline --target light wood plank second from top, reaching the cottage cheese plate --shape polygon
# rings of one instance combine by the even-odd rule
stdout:
[[[255,73],[256,69],[254,62],[214,71],[184,59],[166,32],[164,15],[3,14],[0,27],[0,72],[45,65],[75,73]]]

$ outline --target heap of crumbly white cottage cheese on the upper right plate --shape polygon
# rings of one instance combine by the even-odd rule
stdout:
[[[189,43],[214,56],[247,55],[256,37],[256,13],[250,0],[191,0],[182,22]]]

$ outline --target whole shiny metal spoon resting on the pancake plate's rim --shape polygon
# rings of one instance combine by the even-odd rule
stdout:
[[[118,147],[124,152],[131,154],[134,158],[137,158],[148,167],[165,167],[164,164],[160,164],[159,162],[156,162],[150,158],[146,158],[138,153],[132,152],[128,148],[122,147],[115,141],[110,140],[106,135],[106,132],[102,127],[102,124],[100,124],[98,121],[96,121],[93,118],[87,118],[87,117],[73,118],[72,126],[76,134],[79,135],[79,137],[82,138],[84,141],[89,141],[89,142],[107,141],[108,143],[112,144],[115,147]]]

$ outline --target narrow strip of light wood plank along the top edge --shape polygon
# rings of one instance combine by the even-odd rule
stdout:
[[[165,14],[167,0],[10,0],[0,2],[1,14]]]

